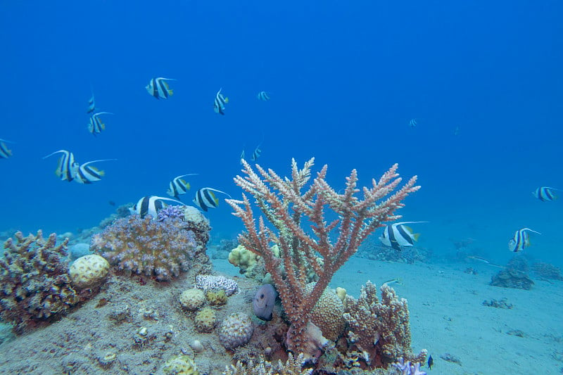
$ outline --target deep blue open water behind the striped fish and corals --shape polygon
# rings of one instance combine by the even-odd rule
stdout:
[[[422,189],[400,210],[438,255],[472,238],[505,262],[514,231],[530,227],[537,259],[563,265],[561,1],[1,1],[3,72],[0,231],[76,231],[118,205],[166,196],[179,174],[192,193],[239,197],[239,155],[288,174],[315,157],[343,186],[369,184],[393,163]],[[144,87],[169,77],[174,95]],[[225,115],[213,111],[222,88]],[[267,91],[271,100],[258,101]],[[106,130],[87,131],[94,92]],[[417,119],[417,127],[409,120]],[[456,132],[457,129],[457,132]],[[455,134],[457,133],[457,135]],[[53,151],[106,171],[62,182]],[[241,223],[225,203],[215,238]]]

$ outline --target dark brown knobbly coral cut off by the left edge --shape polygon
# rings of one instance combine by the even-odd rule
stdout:
[[[37,236],[18,231],[14,237],[4,243],[0,258],[0,318],[13,324],[16,333],[61,317],[94,293],[71,284],[68,239],[57,245],[56,234],[44,239],[40,230]]]

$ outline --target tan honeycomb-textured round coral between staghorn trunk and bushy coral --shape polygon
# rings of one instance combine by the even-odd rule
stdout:
[[[315,283],[305,286],[307,293],[312,291]],[[335,291],[327,288],[321,298],[311,310],[311,322],[319,327],[322,336],[329,340],[336,341],[344,332],[346,320],[343,317],[344,305]]]

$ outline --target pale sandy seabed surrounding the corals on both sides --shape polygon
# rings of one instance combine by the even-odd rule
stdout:
[[[215,272],[238,275],[224,260],[213,263]],[[478,273],[465,273],[469,266]],[[530,291],[488,285],[497,272],[487,265],[408,265],[355,257],[331,286],[358,297],[367,280],[379,287],[402,279],[392,286],[409,302],[413,351],[426,348],[434,358],[434,367],[425,368],[429,375],[562,374],[563,281],[534,279]],[[195,355],[201,374],[221,374],[229,356],[217,335],[194,331],[193,319],[177,303],[193,279],[186,274],[171,284],[142,285],[136,279],[113,278],[93,300],[61,321],[1,344],[0,374],[160,374],[172,355],[182,350],[195,355],[189,346],[194,339],[205,347]],[[233,311],[251,314],[255,284],[237,280],[241,293],[217,311],[218,322]],[[502,298],[511,309],[483,305],[483,300]],[[102,299],[108,303],[100,306]],[[124,322],[108,319],[124,305],[130,312]],[[141,327],[152,339],[138,345]],[[103,357],[111,353],[117,359],[104,365]]]

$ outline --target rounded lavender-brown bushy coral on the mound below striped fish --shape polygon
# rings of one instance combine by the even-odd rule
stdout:
[[[184,222],[131,215],[92,236],[91,248],[118,269],[170,281],[192,265],[196,241]]]

